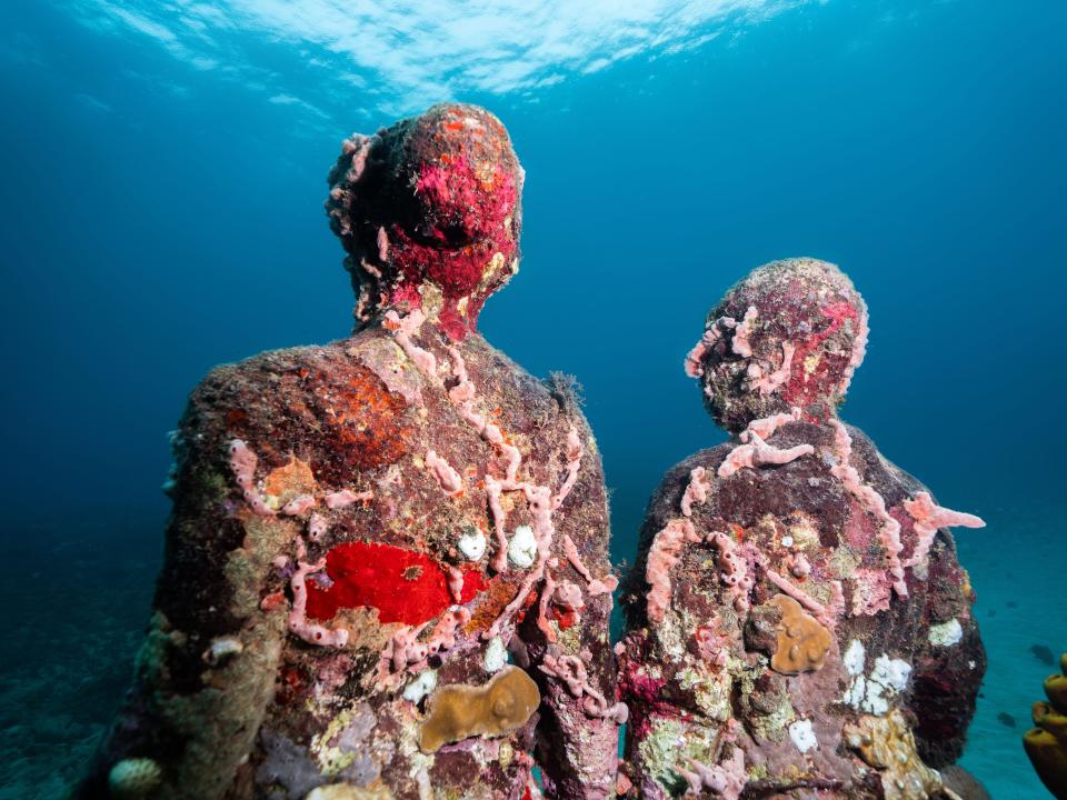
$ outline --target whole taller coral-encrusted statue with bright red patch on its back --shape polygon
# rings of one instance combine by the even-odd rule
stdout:
[[[476,331],[521,183],[476,107],[345,142],[356,332],[193,391],[136,684],[77,797],[540,797],[535,763],[614,796],[599,453],[567,381]]]

